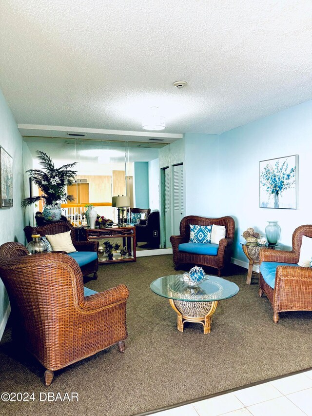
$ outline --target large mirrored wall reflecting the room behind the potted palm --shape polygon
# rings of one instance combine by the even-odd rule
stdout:
[[[130,207],[125,213],[127,222],[134,219],[131,214],[132,209],[150,210],[153,215],[148,218],[151,222],[156,221],[153,233],[159,233],[158,247],[165,247],[164,236],[160,236],[164,233],[164,226],[161,224],[162,216],[159,218],[162,206],[159,152],[165,146],[169,148],[170,145],[43,137],[24,137],[24,141],[32,155],[34,168],[40,168],[36,158],[38,150],[47,153],[56,166],[76,162],[77,180],[67,189],[67,193],[73,195],[75,200],[72,203],[62,204],[63,214],[73,225],[86,225],[84,213],[88,204],[95,206],[100,217],[117,223],[117,208],[112,206],[112,197],[128,196]],[[39,190],[34,185],[31,192],[33,196],[39,195]],[[34,207],[34,213],[36,211],[42,211],[40,202]],[[140,224],[144,225],[146,219],[147,213],[140,213]],[[138,221],[138,218],[136,217],[135,220]],[[148,239],[144,236],[138,239]],[[151,241],[138,241],[137,249],[158,247],[151,244]]]

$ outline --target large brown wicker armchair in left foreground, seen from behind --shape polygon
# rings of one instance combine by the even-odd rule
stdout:
[[[55,370],[113,344],[123,352],[128,288],[120,284],[84,297],[81,270],[73,258],[27,255],[20,243],[2,244],[0,277],[10,298],[12,337],[18,335],[19,344],[47,369],[45,385],[51,384]]]

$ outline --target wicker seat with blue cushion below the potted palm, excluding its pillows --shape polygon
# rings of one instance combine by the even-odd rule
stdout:
[[[45,237],[50,234],[60,234],[66,231],[71,231],[70,236],[77,252],[70,253],[75,258],[80,266],[83,276],[90,275],[93,273],[93,278],[97,278],[98,274],[98,241],[77,241],[76,240],[76,229],[70,222],[57,221],[52,222],[40,227],[31,227],[27,225],[24,228],[25,236],[27,241],[32,240],[32,234],[40,234],[41,237]]]

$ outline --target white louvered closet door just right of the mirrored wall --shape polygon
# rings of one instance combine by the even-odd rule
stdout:
[[[180,222],[184,217],[183,165],[173,166],[173,215],[175,236],[180,234]]]

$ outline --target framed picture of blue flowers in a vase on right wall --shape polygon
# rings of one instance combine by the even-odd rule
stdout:
[[[260,208],[297,209],[298,155],[260,161]]]

